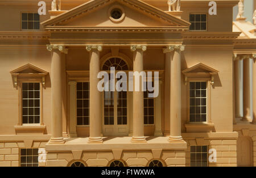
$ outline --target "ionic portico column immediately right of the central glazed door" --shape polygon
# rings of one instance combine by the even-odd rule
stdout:
[[[133,55],[133,71],[141,73],[143,71],[143,52],[147,49],[147,46],[131,46]],[[136,83],[138,84],[138,83]],[[142,84],[142,78],[140,77],[140,86]],[[143,91],[141,87],[139,91],[135,91],[135,80],[133,79],[133,137],[132,142],[146,142],[144,137],[144,101]]]

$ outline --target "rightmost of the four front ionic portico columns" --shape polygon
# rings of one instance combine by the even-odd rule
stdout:
[[[168,46],[166,51],[174,51],[171,58],[171,91],[170,91],[170,137],[169,141],[181,141],[181,57],[183,45]]]

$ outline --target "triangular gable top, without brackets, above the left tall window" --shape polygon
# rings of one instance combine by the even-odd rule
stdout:
[[[41,75],[47,75],[48,72],[40,69],[39,67],[36,67],[32,65],[31,63],[27,63],[26,65],[20,66],[17,69],[14,69],[10,71],[11,74],[41,74]]]

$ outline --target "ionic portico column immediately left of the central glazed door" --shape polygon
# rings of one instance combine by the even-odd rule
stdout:
[[[101,93],[98,91],[100,52],[102,46],[86,46],[90,52],[90,136],[89,143],[102,143],[101,137]]]

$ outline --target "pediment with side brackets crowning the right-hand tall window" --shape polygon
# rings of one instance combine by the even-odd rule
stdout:
[[[218,70],[200,62],[192,67],[189,67],[188,69],[183,70],[182,73],[185,75],[185,84],[187,84],[188,78],[209,78],[209,80],[211,80],[211,84],[213,85],[214,76],[218,75]]]

